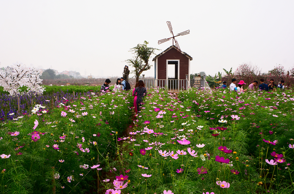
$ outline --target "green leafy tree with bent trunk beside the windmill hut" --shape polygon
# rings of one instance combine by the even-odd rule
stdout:
[[[135,70],[132,72],[135,74],[136,83],[139,81],[139,77],[143,71],[149,70],[152,65],[150,65],[149,58],[152,54],[155,54],[157,48],[147,47],[148,42],[144,41],[144,44],[138,44],[136,47],[131,48],[130,52],[133,52],[135,56],[133,59],[128,59],[126,62],[130,64]]]

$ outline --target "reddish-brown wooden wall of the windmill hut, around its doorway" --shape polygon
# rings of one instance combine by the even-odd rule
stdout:
[[[189,75],[189,58],[178,52],[175,48],[171,48],[158,57],[158,77],[156,79],[166,79],[166,60],[170,59],[180,60],[180,77],[178,79],[186,79],[186,75]]]

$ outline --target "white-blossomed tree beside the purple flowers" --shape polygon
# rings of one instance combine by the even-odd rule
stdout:
[[[41,79],[39,77],[40,70],[34,67],[26,67],[22,63],[14,63],[6,70],[0,71],[0,84],[8,91],[10,95],[19,94],[19,87],[26,86],[29,91],[42,94],[45,91],[40,86]]]

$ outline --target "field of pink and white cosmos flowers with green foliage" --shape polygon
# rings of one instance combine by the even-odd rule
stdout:
[[[1,193],[294,189],[291,90],[149,90],[132,122],[128,92],[67,93],[58,101],[2,124]]]

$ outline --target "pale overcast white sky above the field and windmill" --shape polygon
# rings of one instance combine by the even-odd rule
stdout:
[[[16,62],[94,77],[121,77],[129,50],[172,45],[166,21],[191,72],[233,72],[242,63],[268,72],[294,66],[294,1],[0,0],[0,66]],[[149,63],[154,64],[151,55]],[[130,67],[130,70],[133,70]],[[154,77],[154,67],[145,71]],[[133,75],[131,75],[133,76]]]

